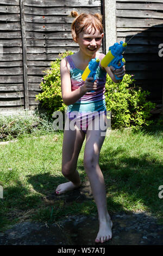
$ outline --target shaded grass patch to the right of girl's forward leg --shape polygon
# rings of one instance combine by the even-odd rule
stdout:
[[[162,131],[162,129],[160,129]],[[163,216],[162,200],[159,198],[159,186],[163,185],[163,165],[148,153],[137,157],[124,156],[121,146],[116,150],[103,150],[100,166],[103,170],[108,209],[124,211],[134,208]],[[120,153],[123,156],[118,157]],[[116,203],[116,200],[121,203]],[[134,206],[135,205],[135,206]]]

